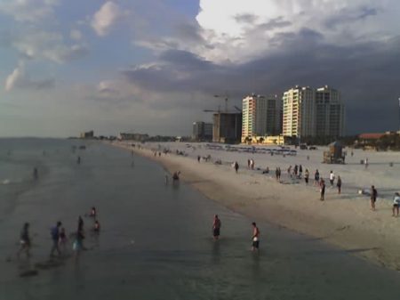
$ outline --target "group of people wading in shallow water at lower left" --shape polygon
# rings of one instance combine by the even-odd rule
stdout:
[[[92,231],[100,232],[100,223],[99,220],[97,219],[96,207],[92,207],[90,214],[88,214],[87,216],[92,217],[94,220]],[[32,242],[30,239],[29,227],[30,224],[28,222],[24,223],[22,230],[20,232],[20,249],[17,252],[17,258],[20,258],[20,254],[23,252],[25,252],[27,257],[30,257],[30,248],[32,247]],[[50,257],[54,257],[54,254],[57,254],[59,256],[62,255],[63,253],[65,254],[67,252],[68,238],[65,228],[62,227],[62,223],[60,221],[58,221],[52,227],[50,235],[52,238],[52,248],[50,250]],[[84,219],[82,218],[81,215],[79,215],[78,217],[77,230],[75,233],[71,234],[71,236],[74,237],[74,241],[72,243],[72,249],[74,250],[75,255],[77,257],[79,253],[85,249]]]

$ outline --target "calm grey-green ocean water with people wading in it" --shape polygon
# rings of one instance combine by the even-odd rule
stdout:
[[[86,150],[72,147],[85,144]],[[82,163],[76,164],[80,156]],[[134,161],[134,166],[132,166]],[[39,171],[38,180],[32,176]],[[268,223],[260,254],[252,221],[180,182],[161,166],[100,142],[0,140],[0,299],[398,299],[400,275]],[[84,217],[87,251],[47,265],[50,229],[76,230],[97,207],[100,235]],[[221,239],[212,240],[220,215]],[[31,223],[32,257],[17,261]],[[20,277],[37,270],[36,276]]]

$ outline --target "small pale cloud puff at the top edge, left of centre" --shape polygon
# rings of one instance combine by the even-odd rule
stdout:
[[[98,36],[107,36],[116,22],[124,17],[123,10],[114,2],[108,1],[100,7],[100,10],[94,13],[92,18],[92,28]]]

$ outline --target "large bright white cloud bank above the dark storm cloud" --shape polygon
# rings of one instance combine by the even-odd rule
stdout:
[[[398,35],[397,0],[200,0],[196,16],[214,47],[212,61],[246,61],[268,53],[283,34],[315,30],[324,43],[352,45]],[[246,21],[247,20],[247,21]],[[275,24],[275,26],[273,26]],[[284,24],[284,26],[279,26]]]

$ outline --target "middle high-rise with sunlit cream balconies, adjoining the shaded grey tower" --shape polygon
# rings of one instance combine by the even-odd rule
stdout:
[[[282,126],[284,136],[315,136],[315,98],[314,89],[299,85],[284,93]]]

